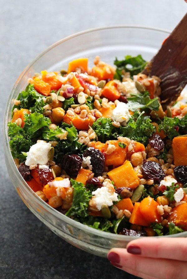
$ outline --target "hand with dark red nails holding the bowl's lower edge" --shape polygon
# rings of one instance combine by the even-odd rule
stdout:
[[[186,279],[186,238],[140,238],[127,248],[113,248],[108,260],[115,267],[143,279]]]

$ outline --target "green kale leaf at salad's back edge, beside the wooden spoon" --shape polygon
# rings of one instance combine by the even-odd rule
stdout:
[[[114,78],[122,81],[124,74],[123,72],[129,72],[132,78],[133,75],[140,73],[145,68],[146,64],[147,62],[141,57],[140,54],[136,57],[126,55],[125,59],[121,61],[116,58],[114,65],[117,66],[117,69]]]

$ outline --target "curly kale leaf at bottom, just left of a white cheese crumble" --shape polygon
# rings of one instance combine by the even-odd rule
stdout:
[[[88,204],[92,194],[83,183],[77,182],[73,179],[70,181],[74,188],[73,203],[65,215],[68,217],[87,217],[89,215]]]

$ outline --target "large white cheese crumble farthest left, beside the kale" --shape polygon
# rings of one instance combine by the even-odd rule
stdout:
[[[29,149],[29,152],[26,153],[26,166],[37,164],[46,165],[46,163],[49,161],[48,152],[50,148],[51,144],[42,140],[38,141],[36,144],[33,144]]]

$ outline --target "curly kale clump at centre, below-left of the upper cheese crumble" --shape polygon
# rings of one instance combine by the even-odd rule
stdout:
[[[108,139],[117,138],[117,129],[112,125],[110,118],[100,117],[92,125],[92,129],[95,131],[98,140],[106,142]]]

